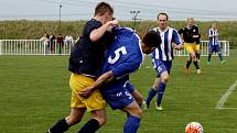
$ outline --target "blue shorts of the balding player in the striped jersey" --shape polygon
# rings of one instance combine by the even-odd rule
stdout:
[[[172,60],[152,59],[152,65],[157,71],[157,77],[160,77],[160,75],[164,71],[168,71],[168,74],[170,74]]]

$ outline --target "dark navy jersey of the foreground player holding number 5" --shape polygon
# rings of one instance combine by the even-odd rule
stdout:
[[[105,32],[96,42],[90,41],[90,33],[101,25],[101,22],[95,19],[91,19],[84,25],[83,35],[79,37],[78,44],[72,49],[68,70],[89,77],[99,75],[105,51],[114,41],[114,35],[110,32]]]

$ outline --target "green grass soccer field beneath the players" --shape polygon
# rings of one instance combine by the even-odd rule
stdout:
[[[0,56],[0,133],[44,133],[69,113],[67,59],[68,56]],[[184,133],[192,121],[200,122],[204,133],[237,133],[237,56],[226,59],[228,63],[222,66],[213,57],[207,66],[206,57],[202,57],[203,74],[197,76],[192,65],[186,76],[186,57],[175,57],[163,98],[164,110],[157,111],[153,100],[143,111],[139,133]],[[141,69],[131,75],[131,82],[147,97],[154,76],[147,57]],[[98,133],[122,133],[126,115],[108,107],[107,118]],[[75,133],[88,119],[89,113],[68,133]]]

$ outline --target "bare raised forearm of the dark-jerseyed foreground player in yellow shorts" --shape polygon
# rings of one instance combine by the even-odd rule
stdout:
[[[90,41],[91,42],[98,41],[110,26],[115,26],[115,25],[118,25],[117,20],[108,21],[106,24],[101,25],[100,27],[93,30],[91,33],[89,34]]]

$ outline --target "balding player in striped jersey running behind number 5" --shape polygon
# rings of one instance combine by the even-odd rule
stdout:
[[[181,49],[182,41],[176,30],[168,26],[169,16],[166,13],[158,14],[158,27],[152,31],[160,34],[162,43],[151,54],[152,65],[157,71],[157,78],[153,87],[150,89],[149,95],[143,102],[144,109],[149,108],[152,98],[158,93],[155,109],[163,110],[161,107],[162,97],[168,84],[170,70],[172,67],[173,48]]]

